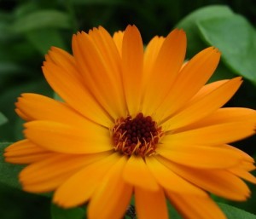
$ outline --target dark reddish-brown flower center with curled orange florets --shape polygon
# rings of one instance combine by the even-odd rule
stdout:
[[[140,112],[135,118],[119,118],[112,129],[114,150],[131,156],[145,157],[154,153],[160,137],[161,127],[150,116]]]

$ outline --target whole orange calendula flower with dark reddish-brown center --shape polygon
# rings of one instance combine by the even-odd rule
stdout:
[[[88,204],[90,219],[120,219],[135,198],[139,219],[226,218],[210,193],[246,200],[253,158],[229,144],[254,134],[256,112],[223,107],[241,78],[207,84],[220,53],[183,65],[186,36],[174,30],[146,49],[136,26],[73,36],[73,55],[52,48],[43,71],[63,101],[23,94],[25,140],[5,151],[27,192],[55,191],[64,208]]]

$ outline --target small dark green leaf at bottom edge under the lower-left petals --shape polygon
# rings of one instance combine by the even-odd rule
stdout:
[[[51,219],[83,219],[85,210],[82,208],[62,209],[57,205],[51,205]]]

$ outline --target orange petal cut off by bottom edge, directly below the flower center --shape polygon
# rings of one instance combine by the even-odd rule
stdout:
[[[140,219],[169,218],[162,188],[158,191],[148,191],[135,187],[135,204],[137,217]]]

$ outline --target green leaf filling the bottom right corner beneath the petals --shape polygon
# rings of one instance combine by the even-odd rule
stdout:
[[[222,203],[218,203],[218,206],[224,211],[228,219],[256,219],[255,215],[248,213],[245,210]]]

